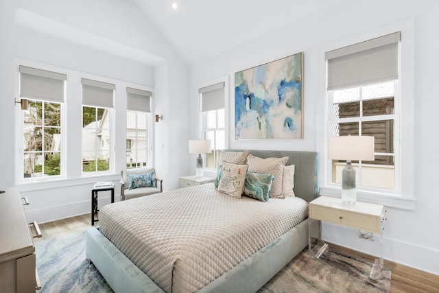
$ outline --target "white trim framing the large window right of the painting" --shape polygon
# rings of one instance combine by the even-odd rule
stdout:
[[[399,183],[398,194],[377,192],[367,189],[357,190],[357,199],[365,202],[375,202],[383,204],[386,207],[397,207],[400,209],[414,209],[416,202],[414,194],[414,19],[407,19],[398,23],[380,27],[377,30],[356,34],[334,43],[323,45],[319,48],[319,99],[325,99],[327,96],[327,62],[325,53],[333,49],[345,47],[365,40],[391,34],[401,31],[401,51],[400,51],[400,82],[401,87],[396,86],[395,91],[401,89],[401,105],[399,117],[395,123],[400,124],[400,133],[398,152],[401,153],[399,170],[401,174],[395,174],[395,183]],[[320,195],[341,197],[341,188],[333,183],[327,182],[329,178],[329,160],[327,157],[328,125],[327,113],[328,105],[326,102],[318,103],[318,150],[320,152],[319,169],[320,169]],[[396,149],[396,148],[395,148]]]

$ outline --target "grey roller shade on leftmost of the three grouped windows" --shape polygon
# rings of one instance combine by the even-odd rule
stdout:
[[[64,102],[67,75],[20,65],[20,97]]]

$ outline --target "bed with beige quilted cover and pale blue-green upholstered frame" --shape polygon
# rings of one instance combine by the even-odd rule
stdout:
[[[296,198],[270,198],[268,202],[258,202],[245,197],[237,199],[219,193],[213,184],[209,184],[110,204],[101,210],[102,214],[99,214],[99,217],[102,217],[99,220],[104,220],[100,222],[102,231],[97,228],[89,228],[86,231],[87,259],[95,264],[115,292],[180,292],[180,290],[181,292],[257,292],[274,274],[307,246],[306,202],[316,198],[318,192],[318,156],[315,152],[294,151],[250,150],[249,153],[260,158],[287,156],[288,161],[285,165],[294,164],[296,167],[294,175]],[[203,198],[209,200],[204,202]],[[169,208],[164,208],[163,201],[166,200],[176,203],[177,207],[180,205],[188,207],[188,209],[184,209],[180,213],[180,210],[171,207],[171,204],[169,204]],[[215,204],[218,207],[224,204],[226,210],[230,212],[225,217],[230,220],[229,223],[224,224],[226,226],[215,224],[219,215],[224,213],[222,211],[217,215],[215,209],[209,207],[209,204],[216,200],[217,202],[213,204],[214,207]],[[281,204],[276,207],[276,202],[281,202]],[[300,202],[305,202],[305,207],[300,207]],[[283,207],[289,205],[298,205],[300,208],[296,215],[287,215],[287,211],[285,213],[280,211],[281,215],[272,219],[277,224],[281,218],[287,218],[287,224],[280,224],[272,229],[280,234],[270,231],[269,235],[263,235],[260,232],[263,231],[264,225],[273,226],[270,224],[270,219],[261,220],[259,226],[253,227],[253,230],[250,229],[247,232],[241,230],[241,226],[246,226],[246,224],[241,223],[233,226],[238,220],[244,219],[244,222],[248,222],[244,218],[244,214],[247,213],[246,209],[249,210],[250,217],[254,217],[255,211],[250,207],[256,207],[258,204],[264,209],[274,210],[282,210]],[[148,211],[148,209],[150,210]],[[154,226],[154,218],[162,218],[163,215],[159,213],[153,215],[152,218],[147,218],[147,214],[152,213],[154,209],[160,210],[161,213],[171,214],[169,219],[155,222],[164,222],[165,226],[174,227],[174,231],[171,230],[171,233],[185,236],[180,239],[181,241],[178,240],[180,242],[174,240],[169,242],[166,235],[157,231],[156,226]],[[200,218],[199,223],[202,223],[198,224],[198,228],[201,228],[201,234],[209,233],[211,231],[209,227],[216,226],[219,231],[211,233],[227,234],[226,237],[230,237],[230,239],[226,239],[225,242],[231,242],[236,249],[224,248],[223,240],[208,243],[209,241],[206,239],[199,238],[201,234],[197,234],[197,227],[190,227],[189,230],[183,231],[185,227],[189,227],[188,223],[192,220],[181,217],[184,214],[193,216],[193,209],[204,211],[204,215],[196,216]],[[126,213],[122,213],[123,210]],[[146,213],[140,216],[143,210],[146,210]],[[241,216],[242,219],[240,219]],[[272,218],[271,215],[270,218]],[[112,222],[113,220],[115,222]],[[136,225],[130,231],[120,232],[119,230],[123,230],[125,222],[135,222]],[[155,228],[148,230],[150,226]],[[230,233],[225,233],[227,230]],[[182,233],[179,233],[180,231]],[[235,235],[231,236],[233,233]],[[139,237],[150,238],[154,234],[158,235],[158,239],[154,239],[153,243],[149,244],[150,246],[141,246],[143,244],[140,244]],[[187,235],[189,234],[193,234],[194,239],[190,237],[188,239]],[[243,234],[246,235],[242,236]],[[257,235],[257,237],[252,235]],[[208,235],[207,239],[210,239],[211,236]],[[253,244],[253,240],[251,243],[248,242],[250,236],[256,239],[254,240],[257,242],[256,244]],[[264,239],[265,242],[259,241],[260,239]],[[182,245],[182,242],[185,242],[185,245],[186,242],[189,242],[189,248],[181,248],[179,245]],[[247,246],[251,247],[242,250],[243,246],[246,249]],[[198,248],[200,250],[196,250]],[[215,249],[219,251],[216,255]],[[178,261],[170,255],[171,250],[177,250]],[[165,252],[163,260],[157,255],[160,251]],[[238,255],[239,261],[230,258],[230,254]],[[209,268],[206,271],[200,271],[198,270],[198,262],[207,263],[208,261],[204,261],[206,255],[211,258],[207,265]],[[187,261],[181,259],[187,259]],[[205,264],[202,265],[205,266]],[[170,269],[165,270],[166,267]],[[195,277],[188,275],[191,270],[195,271],[193,274]]]

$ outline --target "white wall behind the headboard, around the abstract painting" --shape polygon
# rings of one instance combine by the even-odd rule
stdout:
[[[324,87],[319,72],[319,48],[337,40],[379,29],[405,19],[414,19],[415,65],[414,71],[416,106],[415,118],[415,197],[413,211],[386,207],[388,221],[385,226],[385,259],[407,266],[439,274],[439,233],[436,213],[439,196],[434,184],[438,165],[438,136],[431,135],[431,127],[438,124],[436,111],[438,40],[436,30],[439,20],[434,1],[409,0],[343,1],[340,5],[316,13],[307,19],[292,22],[276,32],[236,47],[224,54],[199,62],[191,67],[191,125],[196,128],[198,86],[207,80],[228,75],[230,78],[228,110],[229,147],[260,150],[321,150],[319,132],[324,121],[318,115],[318,105],[324,96],[318,89]],[[294,20],[292,12],[292,19]],[[228,32],[235,34],[237,32]],[[234,139],[233,74],[236,71],[261,65],[303,51],[305,54],[303,76],[305,93],[305,138],[302,140],[236,141]],[[322,170],[320,170],[322,172]],[[322,176],[322,174],[320,174]],[[379,237],[375,242],[359,239],[358,232],[335,225],[324,224],[323,237],[328,242],[379,255]]]

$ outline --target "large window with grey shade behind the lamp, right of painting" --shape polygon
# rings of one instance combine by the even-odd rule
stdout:
[[[372,32],[369,40],[325,50],[326,141],[322,145],[327,145],[327,137],[337,135],[375,137],[375,160],[353,162],[359,199],[413,209],[413,23],[396,23],[381,31],[386,33]],[[322,160],[325,176],[320,194],[337,194],[331,187],[340,188],[344,163]]]

